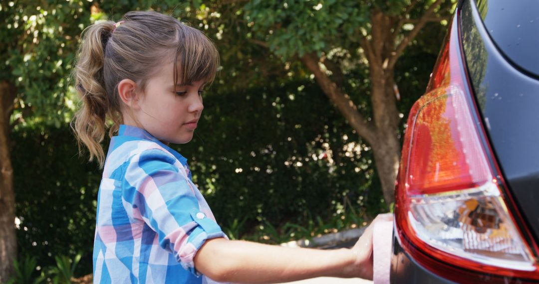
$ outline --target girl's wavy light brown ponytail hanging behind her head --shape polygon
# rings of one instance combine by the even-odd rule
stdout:
[[[114,22],[91,25],[82,33],[82,44],[78,51],[77,66],[74,70],[75,88],[82,106],[71,122],[79,143],[86,145],[90,161],[94,158],[102,167],[105,153],[101,141],[105,137],[105,119],[109,112],[109,102],[103,77],[105,48],[114,29]]]

